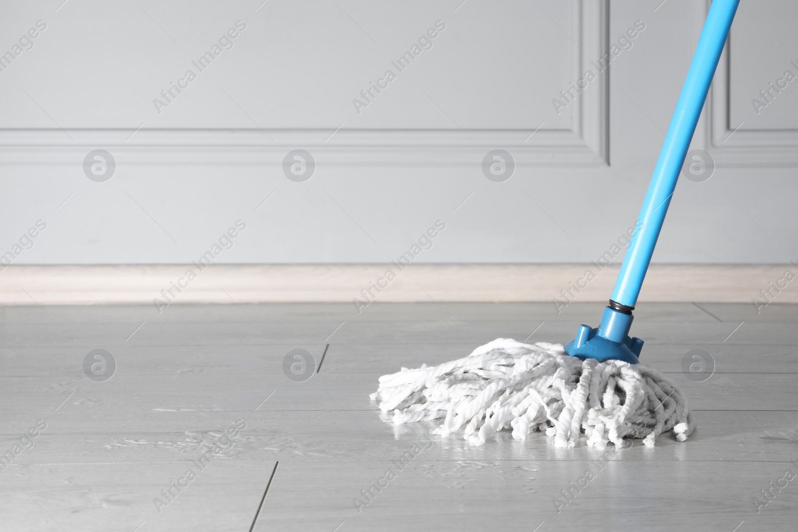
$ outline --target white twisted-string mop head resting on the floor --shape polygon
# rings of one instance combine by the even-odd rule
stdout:
[[[445,418],[436,434],[464,428],[473,445],[512,428],[516,439],[545,430],[555,447],[575,447],[582,432],[591,447],[622,447],[624,438],[654,447],[662,432],[673,429],[681,442],[695,428],[684,393],[654,368],[580,361],[559,344],[508,338],[456,361],[381,376],[371,399],[393,410],[395,424]]]

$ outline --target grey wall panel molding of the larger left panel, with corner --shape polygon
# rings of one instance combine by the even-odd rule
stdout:
[[[607,0],[571,0],[573,81],[607,53]],[[75,164],[103,148],[123,164],[280,164],[294,148],[325,164],[478,164],[491,149],[516,164],[603,166],[609,163],[608,71],[573,102],[571,129],[0,129],[0,162]],[[563,87],[567,89],[567,87]],[[552,94],[551,97],[557,95]]]

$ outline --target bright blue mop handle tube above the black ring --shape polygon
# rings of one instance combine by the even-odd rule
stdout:
[[[715,75],[726,37],[729,36],[738,3],[739,0],[713,0],[709,8],[674,117],[670,120],[668,133],[662,143],[662,152],[651,176],[646,199],[640,209],[638,227],[641,226],[640,222],[642,227],[629,242],[618,281],[615,282],[612,299],[622,305],[634,307],[638,301],[640,287],[646,278],[646,270],[654,254],[676,180],[685,162],[687,148],[693,139],[698,116],[704,107],[709,84]]]

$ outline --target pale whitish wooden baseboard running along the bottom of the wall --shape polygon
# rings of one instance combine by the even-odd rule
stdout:
[[[788,268],[798,274],[789,265],[652,265],[641,301],[750,303],[768,283],[783,286]],[[369,292],[374,301],[587,302],[606,301],[617,274],[618,265],[595,264],[8,266],[0,271],[0,305],[351,303]],[[796,303],[798,290],[789,283],[775,301]]]

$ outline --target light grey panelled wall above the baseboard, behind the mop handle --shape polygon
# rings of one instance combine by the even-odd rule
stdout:
[[[61,1],[6,2],[0,18],[0,53],[46,24],[0,72],[0,254],[47,224],[14,264],[190,262],[239,219],[216,262],[388,262],[438,219],[417,262],[589,262],[634,225],[706,10]],[[717,169],[679,184],[655,262],[798,258],[798,81],[759,114],[751,103],[798,75],[798,6],[742,5],[693,141]],[[192,61],[239,20],[232,48],[199,72]],[[398,72],[391,61],[437,21],[432,48]],[[555,112],[636,21],[631,48]],[[188,69],[196,80],[156,112]],[[396,79],[358,114],[352,100],[386,69]],[[282,171],[297,148],[316,163],[302,183]],[[516,161],[503,183],[482,171],[496,148]],[[84,173],[95,149],[116,160],[105,182]]]

